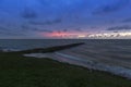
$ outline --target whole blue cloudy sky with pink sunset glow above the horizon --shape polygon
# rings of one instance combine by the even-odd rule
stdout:
[[[0,0],[4,38],[131,38],[131,0]]]

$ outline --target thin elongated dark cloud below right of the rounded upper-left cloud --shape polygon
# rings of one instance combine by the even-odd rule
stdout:
[[[53,24],[58,24],[58,23],[61,23],[61,22],[62,22],[62,20],[57,18],[57,20],[45,21],[45,22],[31,21],[29,24],[32,24],[32,25],[53,25]]]

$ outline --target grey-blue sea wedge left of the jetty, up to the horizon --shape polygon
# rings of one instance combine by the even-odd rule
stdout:
[[[2,49],[33,49],[47,48],[52,46],[79,42],[80,40],[58,40],[58,39],[0,39],[0,50]]]

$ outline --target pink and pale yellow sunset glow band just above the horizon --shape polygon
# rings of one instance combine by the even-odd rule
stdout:
[[[87,33],[62,33],[62,32],[53,32],[53,33],[40,33],[43,37],[50,38],[130,38],[131,33],[102,33],[102,34],[87,34]]]

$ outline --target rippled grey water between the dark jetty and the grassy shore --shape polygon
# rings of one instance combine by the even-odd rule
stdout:
[[[85,41],[84,41],[85,42]],[[114,45],[112,45],[114,44]],[[27,57],[50,58],[60,62],[81,65],[87,69],[109,72],[131,79],[131,49],[130,45],[122,46],[119,41],[108,44],[88,44],[57,51],[55,53],[31,53]]]

